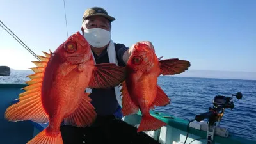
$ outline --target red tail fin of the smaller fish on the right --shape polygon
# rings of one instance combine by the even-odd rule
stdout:
[[[165,122],[154,118],[150,114],[143,115],[137,132],[157,130],[165,125],[167,125]]]

